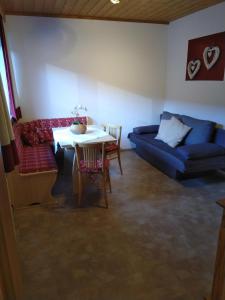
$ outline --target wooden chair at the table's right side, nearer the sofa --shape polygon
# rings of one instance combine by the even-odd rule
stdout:
[[[105,145],[105,154],[106,158],[111,159],[118,159],[120,173],[123,175],[121,159],[120,159],[120,141],[121,141],[121,133],[122,133],[122,126],[120,125],[111,125],[111,124],[104,124],[103,128],[108,134],[116,138],[116,142],[107,143]]]

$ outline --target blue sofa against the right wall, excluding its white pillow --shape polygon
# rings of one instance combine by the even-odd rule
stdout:
[[[128,138],[136,152],[170,177],[182,179],[203,172],[225,169],[225,130],[211,121],[163,112],[161,119],[175,116],[192,129],[176,147],[156,140],[159,125],[133,129]]]

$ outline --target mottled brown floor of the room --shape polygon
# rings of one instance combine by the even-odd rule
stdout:
[[[202,300],[214,269],[225,175],[176,182],[134,152],[111,165],[110,208],[77,208],[67,153],[62,207],[15,213],[25,300]]]

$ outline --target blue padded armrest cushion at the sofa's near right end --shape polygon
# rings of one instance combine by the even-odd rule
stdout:
[[[184,159],[202,159],[225,155],[225,148],[212,143],[185,145],[177,148]]]

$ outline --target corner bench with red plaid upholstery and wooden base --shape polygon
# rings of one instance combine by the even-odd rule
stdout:
[[[9,184],[15,208],[53,200],[51,190],[58,169],[52,150],[52,128],[70,126],[75,120],[87,124],[86,117],[40,119],[14,124],[20,163]]]

